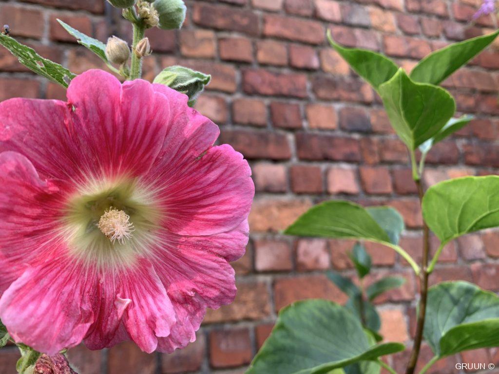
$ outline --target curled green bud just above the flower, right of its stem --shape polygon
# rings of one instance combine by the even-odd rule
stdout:
[[[211,75],[184,66],[170,66],[154,78],[154,83],[164,84],[186,94],[189,96],[189,106],[192,107],[211,78]]]

